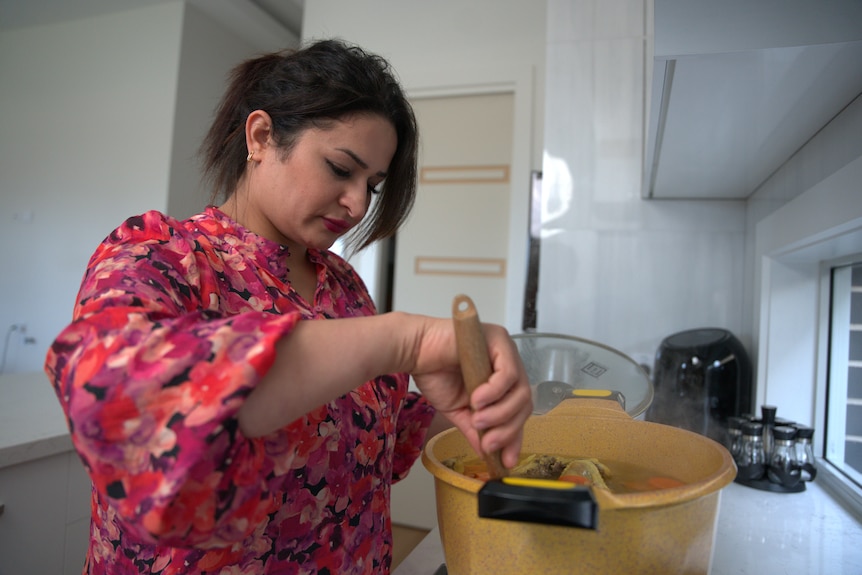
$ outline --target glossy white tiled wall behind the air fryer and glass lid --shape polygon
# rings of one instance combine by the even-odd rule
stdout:
[[[743,321],[745,203],[641,199],[651,0],[549,0],[539,331],[651,364]]]

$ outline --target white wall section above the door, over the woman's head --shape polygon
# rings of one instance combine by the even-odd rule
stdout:
[[[302,37],[339,37],[384,56],[411,92],[460,84],[465,73],[478,84],[489,69],[510,79],[524,66],[541,72],[545,3],[314,0],[305,5]]]

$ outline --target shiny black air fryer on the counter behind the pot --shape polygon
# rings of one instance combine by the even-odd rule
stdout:
[[[727,444],[727,418],[751,411],[751,360],[729,331],[692,329],[662,340],[653,368],[648,421]]]

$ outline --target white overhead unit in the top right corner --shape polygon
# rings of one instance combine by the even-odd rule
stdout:
[[[862,94],[860,0],[654,0],[642,196],[745,199]]]

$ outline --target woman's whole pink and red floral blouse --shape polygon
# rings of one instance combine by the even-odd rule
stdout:
[[[45,363],[93,482],[84,573],[389,571],[390,486],[433,416],[405,374],[262,438],[238,429],[298,321],[375,313],[327,251],[309,253],[307,303],[282,280],[285,249],[210,207],[130,218],[92,256]]]

